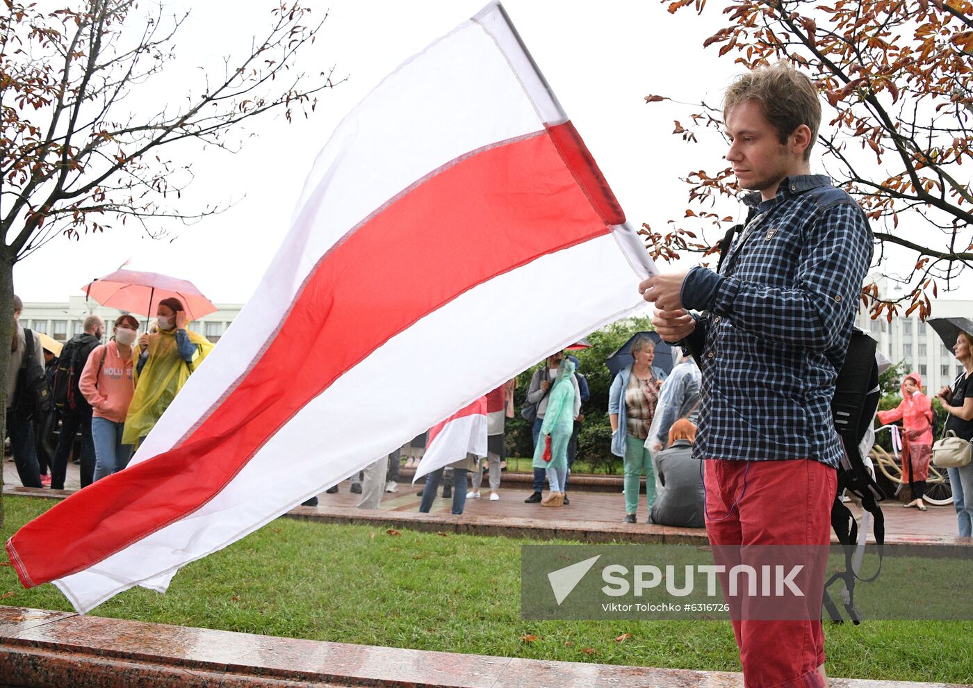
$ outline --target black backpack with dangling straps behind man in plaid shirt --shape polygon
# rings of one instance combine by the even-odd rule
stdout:
[[[885,520],[878,502],[883,501],[885,495],[865,467],[860,450],[861,441],[872,426],[882,397],[875,349],[875,340],[859,330],[852,331],[845,363],[838,373],[835,396],[831,402],[835,429],[845,447],[845,456],[838,466],[838,491],[831,505],[831,526],[845,552],[845,570],[835,573],[825,582],[823,602],[832,621],[839,624],[842,623],[842,617],[834,600],[828,595],[828,587],[837,580],[844,581],[847,592],[844,601],[845,609],[851,621],[860,624],[861,617],[854,606],[855,581],[874,581],[882,571]],[[858,576],[852,566],[852,555],[858,545],[858,523],[841,500],[842,492],[846,489],[861,500],[862,508],[875,520],[875,542],[879,566],[875,575],[869,578]],[[865,533],[861,533],[861,536],[864,538]]]

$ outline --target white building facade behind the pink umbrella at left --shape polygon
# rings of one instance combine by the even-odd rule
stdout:
[[[243,305],[214,304],[214,306],[219,310],[193,320],[186,328],[215,344],[220,341]],[[57,342],[67,342],[83,332],[85,318],[90,314],[103,317],[105,329],[111,333],[112,323],[124,312],[126,311],[118,308],[105,308],[83,296],[72,296],[67,303],[24,303],[23,312],[20,313],[20,324],[35,332],[43,332]],[[150,319],[137,314],[135,317],[141,323],[139,331],[145,332],[146,322]]]

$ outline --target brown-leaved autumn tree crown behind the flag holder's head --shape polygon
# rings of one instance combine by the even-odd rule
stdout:
[[[670,13],[705,0],[664,0]],[[743,68],[787,60],[807,72],[828,103],[818,145],[826,171],[861,203],[879,241],[877,259],[891,246],[911,252],[906,275],[886,275],[911,287],[901,298],[862,291],[873,317],[931,309],[929,295],[955,287],[973,260],[973,4],[967,0],[731,0],[727,25],[704,47],[733,54]],[[695,82],[694,82],[695,83]],[[670,98],[648,95],[647,102]],[[689,143],[719,131],[722,112],[701,103],[674,133]],[[822,127],[824,128],[824,127]],[[965,173],[961,165],[967,163]],[[705,230],[733,224],[719,212],[721,197],[739,188],[730,167],[692,171],[691,207],[666,235],[645,225],[654,258],[673,260],[682,250],[715,252]],[[694,209],[694,207],[696,209]],[[680,224],[682,223],[682,224]],[[703,229],[703,237],[699,234]],[[911,263],[911,260],[910,260]]]

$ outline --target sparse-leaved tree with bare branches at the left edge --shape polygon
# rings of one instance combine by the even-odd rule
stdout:
[[[189,13],[169,16],[160,4],[143,14],[134,0],[66,4],[43,12],[4,0],[0,16],[3,342],[14,333],[18,260],[57,235],[78,238],[131,220],[159,236],[160,219],[192,222],[219,212],[212,205],[176,207],[193,179],[188,161],[204,146],[237,150],[238,126],[250,118],[307,116],[317,94],[334,86],[330,72],[291,71],[327,16],[311,21],[298,2],[281,3],[264,37],[226,57],[221,73],[202,74],[196,87],[167,94],[155,111],[132,111],[129,99],[153,93],[154,77],[174,59]],[[0,395],[9,357],[0,346]],[[0,437],[4,422],[0,417]]]

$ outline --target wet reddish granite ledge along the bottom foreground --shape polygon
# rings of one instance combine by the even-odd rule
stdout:
[[[740,688],[742,675],[236,634],[0,607],[0,685],[184,688]],[[830,679],[833,688],[947,688]]]

